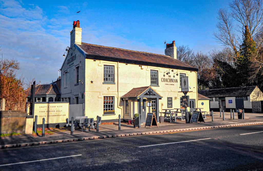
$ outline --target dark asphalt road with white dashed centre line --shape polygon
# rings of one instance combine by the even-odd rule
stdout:
[[[263,170],[263,125],[3,149],[0,156],[0,170]]]

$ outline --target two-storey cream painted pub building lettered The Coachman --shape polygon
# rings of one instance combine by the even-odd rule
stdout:
[[[180,108],[180,77],[189,77],[190,108],[198,106],[198,69],[176,59],[175,42],[165,55],[88,44],[79,21],[70,32],[70,49],[61,67],[61,99],[85,104],[85,116],[103,121]],[[200,106],[201,107],[201,106]]]

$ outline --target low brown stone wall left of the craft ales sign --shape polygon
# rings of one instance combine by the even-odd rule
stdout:
[[[22,111],[0,111],[0,134],[25,133],[26,117]]]

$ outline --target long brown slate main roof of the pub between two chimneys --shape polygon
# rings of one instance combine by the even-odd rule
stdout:
[[[85,58],[88,59],[119,61],[123,63],[198,71],[197,68],[166,55],[93,45],[83,42],[81,45],[77,46],[84,51],[86,54]]]

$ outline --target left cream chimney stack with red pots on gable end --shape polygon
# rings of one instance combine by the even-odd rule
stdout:
[[[81,33],[82,28],[79,27],[79,20],[73,22],[73,30],[70,32],[70,48],[74,46],[74,44],[81,45]]]

